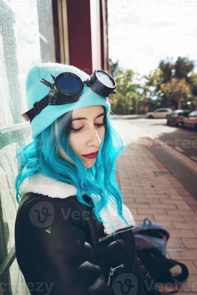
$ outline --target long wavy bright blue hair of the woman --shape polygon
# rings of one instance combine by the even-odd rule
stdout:
[[[116,160],[124,149],[123,141],[111,126],[110,120],[106,115],[106,109],[105,107],[103,108],[105,111],[105,136],[95,164],[91,168],[85,168],[83,161],[69,144],[73,110],[64,113],[56,120],[58,123],[57,135],[55,134],[55,122],[53,122],[38,134],[30,144],[27,144],[23,148],[23,151],[15,156],[15,158],[17,157],[17,159],[19,158],[21,160],[20,172],[15,179],[18,204],[22,197],[19,193],[20,184],[25,178],[34,175],[36,172],[42,172],[47,177],[74,185],[77,188],[77,199],[83,205],[91,206],[83,200],[82,191],[91,199],[91,194],[93,194],[93,210],[98,222],[105,222],[109,225],[111,224],[99,217],[99,213],[107,205],[108,199],[110,199],[117,205],[118,215],[129,227],[127,220],[122,215],[123,199],[115,179],[115,170],[119,171]],[[58,152],[59,145],[61,145],[74,164],[61,158]],[[20,198],[18,195],[20,195]],[[111,227],[114,231],[113,225]]]

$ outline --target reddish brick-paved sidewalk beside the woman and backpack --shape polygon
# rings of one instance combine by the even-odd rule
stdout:
[[[169,230],[167,248],[181,248],[182,252],[167,252],[167,258],[183,262],[189,277],[178,294],[194,295],[197,290],[197,201],[174,177],[156,176],[154,171],[167,171],[142,143],[136,155],[123,152],[117,161],[117,181],[125,205],[130,209],[136,226],[148,217],[153,223]],[[180,267],[171,269],[180,273]],[[194,284],[195,283],[195,284]],[[192,286],[193,284],[193,286]]]

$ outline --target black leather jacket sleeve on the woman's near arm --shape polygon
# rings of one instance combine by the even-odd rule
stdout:
[[[97,264],[91,244],[86,241],[86,231],[75,206],[66,198],[33,202],[29,202],[25,210],[23,208],[25,214],[20,223],[21,237],[25,234],[21,238],[21,246],[31,269],[32,281],[26,281],[30,293],[111,295],[111,287]],[[46,209],[47,203],[54,208],[51,213]],[[37,222],[38,216],[43,221],[41,212],[51,219],[45,227]]]

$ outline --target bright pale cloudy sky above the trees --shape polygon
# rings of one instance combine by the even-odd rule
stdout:
[[[161,60],[195,61],[197,0],[108,0],[109,58],[148,75]]]

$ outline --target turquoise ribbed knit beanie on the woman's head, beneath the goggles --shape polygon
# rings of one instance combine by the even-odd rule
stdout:
[[[57,76],[63,72],[70,72],[77,74],[83,81],[89,78],[89,75],[77,67],[68,64],[59,63],[37,63],[34,64],[26,79],[26,97],[27,97],[27,109],[33,108],[33,104],[36,101],[40,101],[45,97],[50,88],[40,82],[42,78],[53,83],[53,76]],[[110,111],[110,103],[107,97],[103,97],[91,90],[86,84],[83,88],[83,93],[77,102],[72,104],[63,105],[47,105],[38,115],[36,115],[31,124],[31,136],[35,138],[40,132],[52,124],[58,117],[64,113],[81,107],[87,107],[91,105],[103,105],[106,108],[106,113]]]

